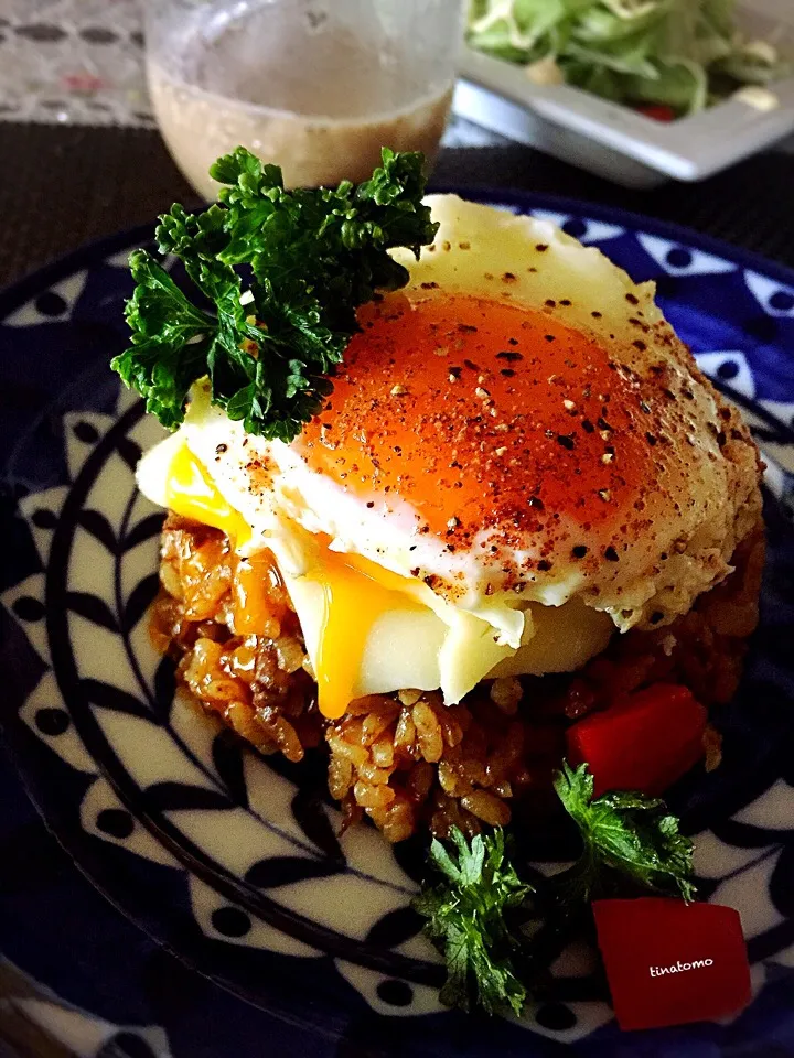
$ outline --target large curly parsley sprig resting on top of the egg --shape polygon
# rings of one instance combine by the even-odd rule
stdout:
[[[291,441],[333,388],[356,309],[407,283],[388,250],[418,257],[432,241],[422,166],[419,153],[384,149],[382,168],[357,186],[286,191],[281,170],[244,148],[218,159],[219,202],[198,214],[174,205],[155,230],[194,294],[151,253],[133,252],[132,339],[111,366],[164,427],[182,422],[191,386],[208,376],[212,402],[230,419]]]

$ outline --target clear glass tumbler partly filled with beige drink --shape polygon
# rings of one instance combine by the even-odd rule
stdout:
[[[380,148],[432,159],[452,97],[464,0],[148,0],[147,75],[174,160],[238,144],[287,186],[366,179]]]

